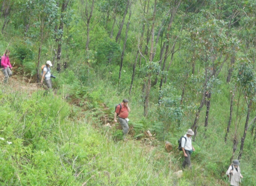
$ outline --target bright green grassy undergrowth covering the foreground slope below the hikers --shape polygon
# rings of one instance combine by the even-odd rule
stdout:
[[[39,84],[18,75],[0,86],[0,185],[227,185],[223,165],[207,164],[199,146],[179,178],[183,157],[175,145],[166,152],[150,131],[135,135],[133,125],[123,141],[111,109],[84,93],[43,96]]]

